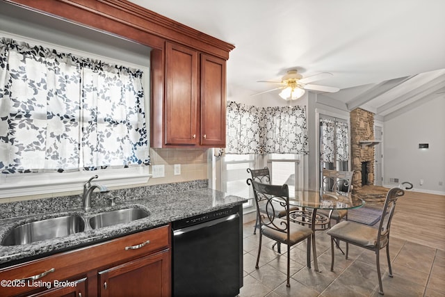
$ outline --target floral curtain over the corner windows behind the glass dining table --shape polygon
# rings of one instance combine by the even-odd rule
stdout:
[[[227,154],[307,154],[304,106],[227,104]]]

